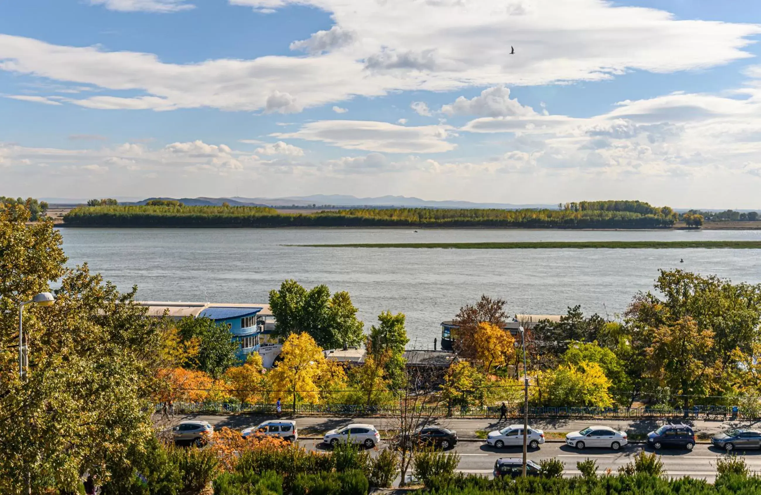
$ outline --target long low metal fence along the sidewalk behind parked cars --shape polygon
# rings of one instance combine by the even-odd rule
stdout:
[[[275,414],[274,404],[240,404],[234,402],[177,402],[172,405],[174,413],[250,413]],[[499,417],[501,405],[484,406],[421,406],[422,414],[431,417]],[[164,405],[156,405],[156,412],[164,411]],[[300,415],[347,415],[347,416],[393,416],[399,414],[398,405],[335,405],[335,404],[283,404],[285,414]],[[508,407],[508,417],[521,417],[522,406]],[[603,417],[603,418],[681,418],[681,419],[758,419],[757,411],[743,414],[737,406],[694,406],[693,408],[548,408],[529,407],[530,417]]]

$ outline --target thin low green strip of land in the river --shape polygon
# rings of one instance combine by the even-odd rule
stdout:
[[[288,244],[290,247],[406,249],[761,249],[755,240],[704,241],[540,241],[519,243],[353,243]]]

